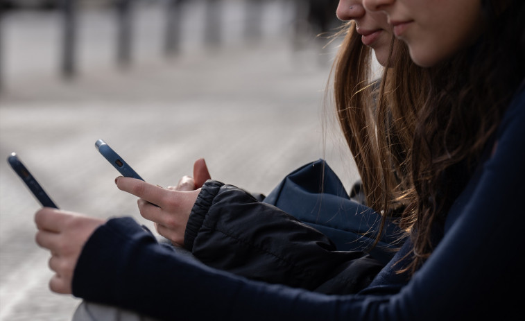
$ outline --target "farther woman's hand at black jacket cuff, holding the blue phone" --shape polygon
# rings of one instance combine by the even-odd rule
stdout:
[[[157,232],[173,245],[184,245],[184,232],[200,189],[173,191],[130,177],[115,180],[121,191],[139,197],[141,216],[155,223]]]

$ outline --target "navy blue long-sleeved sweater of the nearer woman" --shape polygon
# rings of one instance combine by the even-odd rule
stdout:
[[[524,91],[508,107],[496,139],[494,154],[451,207],[436,250],[409,281],[395,273],[395,257],[355,295],[268,284],[209,268],[160,245],[135,220],[114,218],[83,248],[74,295],[164,320],[521,319]],[[213,193],[212,202],[198,206],[214,211],[232,196],[239,206],[264,206],[233,186]]]

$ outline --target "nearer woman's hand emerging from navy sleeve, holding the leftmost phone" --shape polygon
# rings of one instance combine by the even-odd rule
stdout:
[[[71,294],[71,281],[80,252],[94,230],[105,220],[44,207],[35,214],[36,242],[51,251],[49,268],[55,272],[49,281],[53,292]]]

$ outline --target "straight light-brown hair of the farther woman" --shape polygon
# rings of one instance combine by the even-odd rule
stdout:
[[[380,80],[372,79],[371,49],[362,44],[353,22],[344,32],[332,69],[338,122],[361,175],[367,205],[381,211],[385,220],[400,218],[413,189],[411,146],[427,73],[393,37],[389,67]],[[410,225],[408,218],[402,227],[408,231]]]

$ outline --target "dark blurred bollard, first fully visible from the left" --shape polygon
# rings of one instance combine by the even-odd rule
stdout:
[[[62,0],[62,76],[76,76],[77,0]]]

